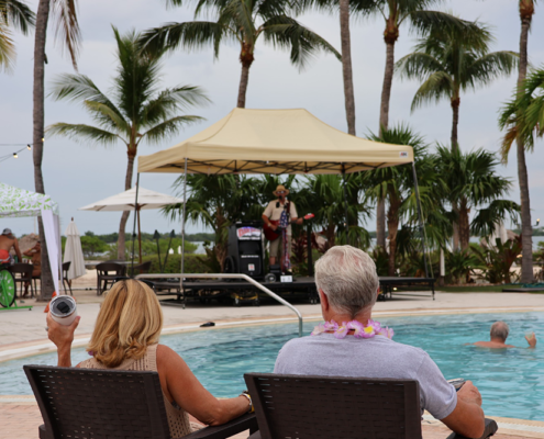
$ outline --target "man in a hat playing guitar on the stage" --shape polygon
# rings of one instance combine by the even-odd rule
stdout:
[[[291,255],[291,223],[302,224],[302,218],[298,217],[295,203],[287,200],[289,190],[286,189],[285,185],[279,184],[273,193],[278,199],[270,201],[266,206],[265,212],[263,212],[265,234],[268,228],[275,232],[273,235],[277,235],[275,239],[270,239],[270,234],[267,234],[267,237],[270,239],[270,266],[276,264],[279,256],[279,243],[284,241],[281,269],[289,270],[291,268],[289,260]],[[274,238],[274,236],[271,238]]]

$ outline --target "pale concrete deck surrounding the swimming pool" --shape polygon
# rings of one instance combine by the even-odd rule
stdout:
[[[97,296],[93,291],[74,291],[78,301],[78,313],[81,322],[77,330],[75,345],[85,346],[92,331],[100,303],[103,296]],[[163,299],[163,297],[160,297]],[[34,353],[54,350],[53,344],[45,334],[45,316],[43,303],[25,300],[24,305],[34,305],[32,311],[0,312],[0,368],[1,361],[26,357]],[[295,303],[304,319],[320,319],[320,306],[306,302]],[[507,313],[507,312],[544,312],[544,295],[528,293],[436,293],[436,300],[430,297],[393,296],[388,302],[378,302],[375,316],[401,315],[438,315],[466,313]],[[215,304],[189,303],[186,309],[174,306],[163,306],[165,316],[164,334],[200,329],[204,322],[215,322],[215,329],[225,326],[286,323],[296,324],[296,316],[284,305],[265,303],[255,306],[223,306]],[[0,395],[1,395],[0,387]],[[493,438],[543,438],[544,423],[523,419],[496,418],[499,423],[499,435]],[[42,417],[33,396],[0,396],[1,438],[36,439],[37,426]],[[430,417],[423,420],[423,438],[445,438],[449,430],[440,421]],[[238,435],[236,438],[245,438]]]

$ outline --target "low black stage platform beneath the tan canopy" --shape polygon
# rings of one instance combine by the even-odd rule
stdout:
[[[381,294],[379,300],[386,301],[393,295],[424,296],[434,300],[434,279],[433,278],[395,278],[380,277]],[[248,282],[227,281],[227,280],[193,280],[188,277],[184,281],[184,289],[176,282],[153,282],[157,294],[176,294],[176,299],[162,300],[163,305],[182,306],[185,308],[187,300],[195,300],[201,303],[210,303],[217,300],[222,303],[233,303],[240,306],[243,303],[251,303],[258,306],[260,299],[266,294]],[[306,299],[310,303],[318,303],[319,295],[313,277],[293,278],[292,282],[260,282],[274,293],[285,300]],[[426,288],[428,291],[421,291],[420,288]],[[174,292],[173,292],[174,290]],[[418,291],[419,292],[414,292]]]

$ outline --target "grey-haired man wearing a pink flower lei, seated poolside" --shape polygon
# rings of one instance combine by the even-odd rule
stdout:
[[[371,319],[379,281],[366,252],[332,247],[315,262],[315,285],[325,324],[310,337],[288,341],[279,351],[275,373],[417,380],[422,410],[456,434],[482,436],[478,389],[466,381],[456,392],[425,351],[392,341],[392,330]]]

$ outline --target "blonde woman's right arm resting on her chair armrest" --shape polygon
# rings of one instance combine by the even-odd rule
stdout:
[[[200,384],[181,357],[167,346],[157,347],[157,370],[167,398],[206,425],[224,424],[251,408],[245,396],[230,399],[214,397]]]

